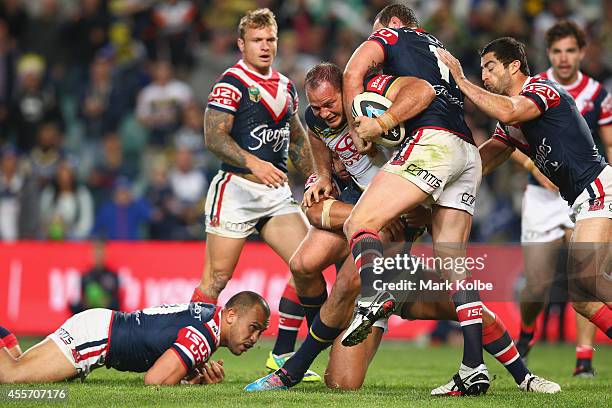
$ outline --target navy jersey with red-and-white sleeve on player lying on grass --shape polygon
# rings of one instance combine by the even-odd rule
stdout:
[[[114,312],[106,366],[144,372],[171,349],[189,371],[219,347],[220,314],[221,308],[200,302]]]

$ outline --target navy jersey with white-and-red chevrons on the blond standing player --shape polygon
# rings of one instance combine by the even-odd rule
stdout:
[[[207,107],[234,115],[230,135],[236,143],[287,172],[289,120],[298,111],[298,94],[286,76],[276,70],[263,76],[241,60],[213,86]],[[221,169],[250,173],[227,163],[222,163]]]

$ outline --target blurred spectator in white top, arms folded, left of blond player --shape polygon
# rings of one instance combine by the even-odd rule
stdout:
[[[172,66],[159,61],[153,67],[153,82],[138,95],[136,115],[149,129],[149,143],[163,146],[181,124],[183,109],[193,101],[189,86],[175,79]]]

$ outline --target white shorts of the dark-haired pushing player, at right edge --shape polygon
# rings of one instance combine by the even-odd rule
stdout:
[[[572,218],[612,218],[612,167],[606,166],[574,201]]]

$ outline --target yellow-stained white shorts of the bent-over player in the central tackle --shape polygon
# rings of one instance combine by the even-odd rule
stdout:
[[[382,168],[412,182],[429,199],[425,204],[457,208],[474,215],[482,178],[478,148],[439,129],[420,129]]]

